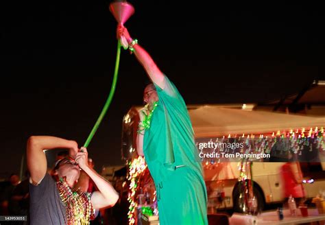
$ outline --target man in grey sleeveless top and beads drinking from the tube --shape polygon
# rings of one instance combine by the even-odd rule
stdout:
[[[45,151],[56,148],[68,149],[69,157],[56,163],[52,177],[47,173]],[[79,149],[75,141],[50,136],[29,137],[27,167],[31,224],[89,224],[95,209],[113,206],[119,199],[112,185],[88,166],[86,148]],[[98,188],[91,195],[73,189],[81,169]]]

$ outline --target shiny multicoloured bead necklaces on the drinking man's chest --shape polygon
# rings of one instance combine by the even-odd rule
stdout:
[[[65,178],[60,178],[56,182],[56,187],[65,206],[67,224],[90,224],[94,217],[90,193],[84,193],[80,189],[72,190]]]

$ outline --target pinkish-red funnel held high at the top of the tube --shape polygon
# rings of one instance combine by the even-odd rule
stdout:
[[[117,23],[123,25],[132,14],[134,14],[134,7],[127,1],[115,1],[110,3],[110,12],[117,20]],[[121,36],[121,44],[124,49],[128,49],[128,41],[124,36]]]

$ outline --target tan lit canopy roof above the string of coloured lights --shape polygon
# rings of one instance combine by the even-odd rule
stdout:
[[[288,115],[280,112],[201,106],[189,109],[195,137],[222,137],[228,134],[267,134],[325,126],[325,117]]]

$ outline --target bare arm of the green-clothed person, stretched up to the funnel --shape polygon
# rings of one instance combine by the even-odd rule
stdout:
[[[123,27],[123,25],[119,25],[117,27],[117,38],[120,38],[121,36],[125,36],[129,45],[132,43],[133,39],[131,38],[128,29]],[[143,65],[143,68],[147,72],[150,80],[163,89],[165,75],[157,67],[152,57],[139,44],[133,45],[133,49],[136,59],[139,60],[139,62]]]

